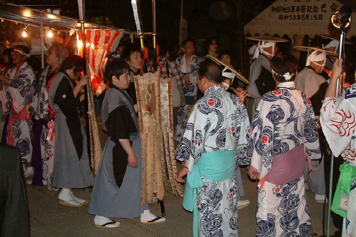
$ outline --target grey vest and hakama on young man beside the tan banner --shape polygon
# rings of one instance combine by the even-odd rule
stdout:
[[[118,112],[115,113],[115,111]],[[125,111],[127,113],[124,113]],[[95,177],[88,213],[104,217],[133,219],[134,217],[139,217],[141,213],[143,213],[143,210],[148,209],[147,204],[141,204],[142,155],[141,138],[137,133],[137,115],[128,94],[113,85],[108,88],[105,94],[101,113],[103,129],[108,131],[109,137],[106,140],[98,173]],[[131,129],[129,138],[132,142],[132,150],[137,157],[137,168],[132,168],[127,165],[122,183],[119,182],[119,184],[117,184],[118,181],[114,175],[116,168],[113,159],[127,159],[127,156],[124,150],[122,150],[121,153],[113,154],[114,146],[121,145],[119,141],[113,141],[113,137],[116,136],[113,133],[116,131],[110,131],[110,128],[107,128],[110,113],[111,115],[115,113],[114,121],[121,121],[121,119],[123,119],[122,122],[125,123],[124,126],[117,125],[118,127],[113,128],[127,130],[126,132],[129,132],[130,129],[128,127],[130,126],[128,123],[132,122],[135,127],[133,129],[136,130],[136,133],[132,133]],[[125,122],[127,119],[131,120]],[[122,134],[126,132],[117,131],[116,134],[121,133],[117,138],[125,139],[125,137],[122,137]],[[117,157],[117,155],[120,157]]]

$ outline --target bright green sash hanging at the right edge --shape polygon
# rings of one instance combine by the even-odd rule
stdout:
[[[350,166],[347,162],[344,162],[342,165],[340,165],[340,176],[336,186],[331,210],[344,218],[346,217],[348,195],[350,194],[352,176],[356,178],[356,166]]]

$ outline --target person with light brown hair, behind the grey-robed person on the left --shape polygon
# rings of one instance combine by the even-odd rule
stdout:
[[[55,75],[60,70],[63,61],[68,56],[67,49],[61,44],[54,44],[48,49],[47,67],[39,79],[39,95],[37,102],[37,122],[34,131],[34,155],[32,163],[36,167],[33,185],[52,186],[54,158],[54,110],[48,106],[48,91]]]

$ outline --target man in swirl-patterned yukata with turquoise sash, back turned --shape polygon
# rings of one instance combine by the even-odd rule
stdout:
[[[245,106],[226,92],[219,66],[201,63],[197,84],[204,93],[194,105],[176,159],[183,167],[176,181],[184,183],[186,210],[193,212],[194,236],[238,235],[238,181],[235,168],[245,158],[250,123]]]

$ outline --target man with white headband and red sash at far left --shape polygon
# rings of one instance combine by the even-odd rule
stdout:
[[[0,75],[3,113],[9,111],[6,143],[18,147],[21,159],[27,162],[26,177],[34,173],[31,166],[32,134],[30,128],[37,106],[35,75],[26,62],[29,56],[29,49],[26,46],[14,46],[12,58],[15,66],[5,76]]]

